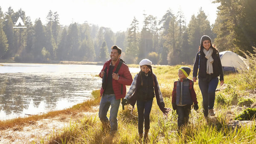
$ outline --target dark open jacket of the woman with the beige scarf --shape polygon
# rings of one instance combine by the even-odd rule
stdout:
[[[207,77],[207,73],[206,73],[207,58],[205,58],[203,49],[200,49],[195,56],[195,63],[193,67],[193,77],[195,78],[197,74],[198,74],[198,78]],[[212,78],[220,76],[220,81],[224,81],[223,69],[221,65],[221,58],[220,58],[219,52],[215,48],[211,48],[211,49],[213,49],[212,58],[214,60],[212,63],[212,68],[213,68]],[[198,67],[198,63],[199,63],[199,67]],[[199,68],[199,71],[198,71],[198,68]]]

